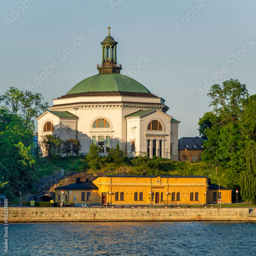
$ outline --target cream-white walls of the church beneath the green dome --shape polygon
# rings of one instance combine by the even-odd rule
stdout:
[[[46,134],[53,134],[62,139],[75,139],[77,136],[82,145],[82,153],[88,153],[93,137],[97,144],[99,144],[100,137],[100,140],[103,140],[101,154],[105,155],[108,146],[106,140],[109,137],[110,147],[116,146],[118,142],[126,150],[128,156],[147,152],[151,157],[157,155],[178,160],[179,122],[165,113],[168,108],[164,105],[162,98],[152,96],[152,94],[142,95],[143,97],[133,97],[132,93],[130,95],[127,93],[105,94],[107,95],[98,97],[80,96],[54,99],[53,106],[50,108],[51,112],[45,112],[37,118],[38,140]],[[69,112],[77,118],[60,118],[59,112]],[[94,121],[99,118],[108,121],[109,127],[93,127]],[[172,122],[172,119],[175,122]],[[161,123],[162,130],[148,130],[148,125],[153,120]],[[54,131],[44,132],[47,121],[52,122]],[[132,148],[133,143],[134,148]]]

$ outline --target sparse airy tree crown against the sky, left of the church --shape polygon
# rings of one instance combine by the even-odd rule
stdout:
[[[48,103],[42,102],[44,98],[40,93],[30,91],[20,91],[11,87],[4,95],[0,96],[1,109],[6,110],[11,115],[18,115],[24,118],[25,125],[34,130],[33,118],[38,117],[48,109]]]

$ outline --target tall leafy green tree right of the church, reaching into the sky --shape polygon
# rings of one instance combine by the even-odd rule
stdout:
[[[256,97],[233,79],[214,84],[207,95],[213,110],[199,119],[199,133],[207,137],[202,160],[226,169],[228,185],[239,186],[246,169],[246,141],[256,139]]]

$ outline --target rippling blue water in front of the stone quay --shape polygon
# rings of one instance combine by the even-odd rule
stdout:
[[[9,255],[256,254],[253,222],[13,223],[8,232]]]

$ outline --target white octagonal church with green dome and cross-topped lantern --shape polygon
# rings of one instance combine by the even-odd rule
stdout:
[[[49,111],[40,115],[38,140],[47,134],[62,139],[79,139],[82,153],[95,143],[106,155],[119,143],[129,157],[147,152],[178,160],[179,121],[166,114],[165,100],[141,83],[120,74],[118,42],[109,35],[101,42],[102,63],[98,74],[77,83],[53,100]]]

